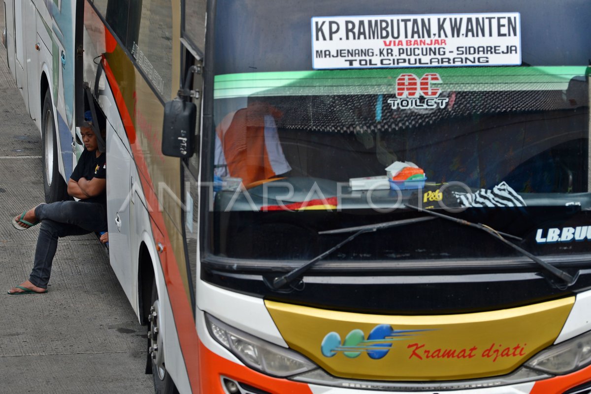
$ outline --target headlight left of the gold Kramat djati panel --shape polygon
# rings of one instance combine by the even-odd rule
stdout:
[[[300,353],[230,327],[207,313],[205,320],[211,336],[252,369],[286,377],[318,367]]]

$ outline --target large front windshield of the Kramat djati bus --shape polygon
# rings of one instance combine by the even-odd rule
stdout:
[[[407,204],[539,255],[583,253],[589,15],[584,1],[561,2],[564,20],[553,7],[218,1],[210,256],[306,260],[340,240],[318,232],[420,215]],[[517,256],[433,223],[364,235],[327,260]]]

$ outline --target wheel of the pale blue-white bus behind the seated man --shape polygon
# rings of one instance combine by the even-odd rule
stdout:
[[[66,182],[61,178],[57,160],[56,124],[49,89],[43,100],[41,134],[43,138],[43,188],[45,202],[61,201],[66,196]]]

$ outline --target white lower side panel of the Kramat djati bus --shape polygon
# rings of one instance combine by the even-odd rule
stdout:
[[[148,249],[155,250],[154,239],[162,239],[163,235],[158,233],[155,236],[138,234],[139,229],[150,229],[151,219],[145,203],[141,183],[137,180],[135,163],[132,160],[127,146],[129,141],[121,124],[116,106],[105,105],[107,101],[113,100],[109,89],[102,92],[107,93],[100,96],[100,104],[106,111],[108,122],[115,123],[115,127],[108,125],[107,135],[107,199],[108,199],[108,224],[109,224],[109,257],[111,267],[115,272],[119,283],[125,291],[132,307],[139,316],[141,311],[138,304],[138,249],[141,242],[148,245]],[[115,117],[116,116],[116,117]],[[177,386],[178,392],[189,393],[191,386],[187,378],[187,370],[183,359],[183,353],[178,342],[176,324],[170,306],[170,298],[166,290],[164,273],[158,258],[165,261],[168,251],[161,251],[160,254],[152,257],[155,278],[157,281],[158,294],[160,295],[161,313],[163,314],[163,326],[161,335],[165,340],[165,362],[167,371],[170,373]],[[155,260],[155,261],[154,261]],[[144,289],[150,291],[150,289]]]

